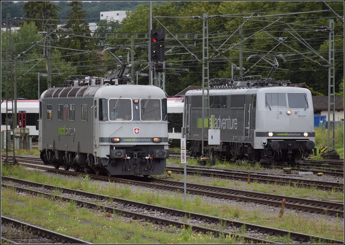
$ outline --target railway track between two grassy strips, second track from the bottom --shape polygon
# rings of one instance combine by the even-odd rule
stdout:
[[[146,220],[146,221],[150,221],[150,222],[162,224],[162,225],[175,225],[176,227],[181,227],[183,225],[185,227],[191,226],[191,228],[194,231],[197,231],[197,232],[201,231],[204,233],[210,232],[214,236],[219,236],[220,234],[232,235],[232,236],[236,235],[236,236],[244,238],[246,242],[276,243],[269,240],[259,239],[253,236],[269,234],[272,238],[272,236],[286,236],[288,235],[288,233],[290,233],[290,237],[292,241],[294,241],[294,243],[296,242],[309,243],[311,241],[321,241],[320,239],[322,239],[322,241],[325,241],[325,243],[342,243],[342,241],[335,240],[335,239],[328,239],[324,237],[291,232],[291,231],[281,230],[277,228],[271,228],[271,227],[266,227],[266,226],[239,222],[235,220],[221,219],[219,217],[198,214],[198,213],[191,213],[191,212],[186,212],[183,210],[170,209],[166,207],[145,204],[145,203],[135,202],[131,200],[114,198],[111,196],[83,192],[80,190],[61,188],[61,187],[56,187],[53,185],[46,185],[46,184],[19,180],[19,179],[14,179],[14,178],[9,178],[9,177],[3,177],[3,181],[16,182],[17,184],[19,184],[21,187],[2,184],[3,187],[17,188],[17,191],[25,191],[25,192],[32,193],[35,195],[43,194],[47,196],[53,196],[54,198],[59,198],[60,200],[62,198],[65,201],[71,201],[72,199],[69,198],[68,196],[73,196],[73,199],[74,199],[73,201],[76,201],[77,204],[80,206],[86,206],[92,209],[96,208],[98,210],[102,210],[103,212],[118,213],[118,214],[125,215],[127,217],[132,217],[133,219],[139,218],[141,220]],[[28,186],[30,189],[23,188],[26,186]],[[33,190],[33,188],[40,188],[40,190],[46,189],[47,192],[42,191],[42,190],[36,191],[36,190]],[[63,195],[61,194],[57,196],[57,195],[48,193],[48,191],[52,192],[57,189],[59,189],[63,193]],[[80,198],[76,199],[76,196],[87,198],[88,201],[84,201]],[[94,199],[95,202],[91,201],[90,199]],[[105,201],[106,203],[104,203]],[[107,205],[103,205],[103,204],[107,204]],[[135,212],[133,210],[135,210]],[[157,211],[162,214],[162,215],[159,215],[159,218],[157,217],[157,215],[152,215],[155,212],[157,213]],[[189,224],[181,222],[182,217],[189,217],[190,219]],[[190,222],[194,222],[194,223],[191,224]],[[223,226],[221,228],[219,228],[218,226],[218,228],[215,229],[214,226],[215,224],[218,224],[218,223],[223,224]],[[241,227],[246,227],[245,229],[249,233],[248,236],[238,234],[238,232],[241,230]],[[250,231],[254,231],[254,233],[251,233]]]

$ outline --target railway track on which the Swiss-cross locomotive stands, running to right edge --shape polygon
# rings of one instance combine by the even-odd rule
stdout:
[[[25,160],[32,162],[32,160]],[[66,171],[63,169],[55,169],[51,166],[43,166],[40,162],[36,163],[20,163],[24,167],[37,168],[48,171],[55,171],[59,173],[67,173],[72,175],[81,175],[85,173]],[[133,184],[140,187],[156,188],[161,190],[170,191],[184,191],[184,182],[171,181],[165,179],[156,178],[145,178],[138,177],[136,179],[122,179],[122,178],[109,178],[105,176],[99,176],[94,174],[89,174],[90,177],[95,179],[101,179],[106,181],[114,181],[124,184]],[[139,179],[139,180],[137,180]],[[328,202],[322,200],[312,200],[304,198],[295,198],[291,196],[267,194],[261,192],[245,191],[238,189],[214,187],[209,185],[201,185],[194,183],[187,183],[187,192],[191,194],[211,196],[220,199],[237,200],[243,202],[252,202],[263,205],[270,205],[275,207],[280,207],[282,205],[282,200],[285,198],[285,207],[288,209],[299,210],[304,212],[313,212],[318,214],[327,213],[329,215],[337,215],[339,217],[344,216],[344,204],[336,202]]]

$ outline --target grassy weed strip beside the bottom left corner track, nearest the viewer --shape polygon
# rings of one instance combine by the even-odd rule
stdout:
[[[236,237],[201,234],[191,228],[158,226],[149,222],[122,220],[102,213],[42,196],[31,196],[7,189],[1,191],[1,213],[62,234],[99,244],[152,243],[239,243]],[[24,203],[18,205],[16,202]]]

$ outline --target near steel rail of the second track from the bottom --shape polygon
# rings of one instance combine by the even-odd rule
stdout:
[[[124,209],[118,209],[118,208],[115,208],[115,207],[101,205],[101,204],[98,204],[98,203],[83,201],[83,200],[79,200],[79,199],[67,198],[67,197],[61,196],[61,195],[54,195],[54,194],[49,194],[49,193],[45,193],[45,192],[41,192],[41,191],[35,191],[35,190],[26,189],[26,188],[22,188],[22,187],[16,187],[14,185],[1,184],[1,186],[2,187],[15,188],[17,191],[31,193],[31,194],[34,194],[34,195],[40,194],[40,195],[43,195],[43,196],[53,197],[55,199],[63,200],[63,201],[66,201],[66,202],[71,202],[71,201],[72,202],[76,202],[76,205],[79,205],[79,206],[84,206],[84,207],[87,207],[89,209],[96,209],[96,210],[107,212],[107,213],[114,213],[114,214],[118,214],[118,215],[121,215],[121,216],[131,217],[132,219],[135,219],[135,220],[140,219],[140,220],[144,220],[144,221],[147,221],[147,222],[152,222],[152,223],[156,223],[156,224],[160,224],[160,225],[165,225],[165,226],[168,226],[168,225],[174,225],[176,227],[184,226],[184,227],[187,227],[187,228],[191,228],[193,231],[203,232],[205,234],[209,233],[209,234],[212,234],[213,236],[219,236],[221,234],[223,234],[223,235],[231,235],[231,236],[235,236],[236,235],[236,237],[243,238],[247,242],[279,244],[278,242],[273,242],[273,241],[269,241],[269,240],[265,240],[265,239],[260,239],[260,238],[250,237],[250,236],[244,236],[244,235],[239,235],[239,234],[236,234],[236,233],[230,233],[230,232],[225,232],[225,231],[219,231],[219,230],[216,230],[216,229],[213,229],[213,228],[207,228],[207,227],[203,227],[203,226],[190,225],[190,224],[187,224],[187,223],[184,223],[184,222],[173,221],[173,220],[164,219],[164,218],[160,218],[160,217],[155,217],[155,216],[151,216],[151,215],[131,212],[131,211],[127,211],[127,210],[124,210]],[[326,239],[328,239],[328,238],[326,238]]]

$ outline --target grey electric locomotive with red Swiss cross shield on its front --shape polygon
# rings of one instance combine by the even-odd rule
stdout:
[[[161,174],[169,156],[167,98],[155,86],[66,81],[42,93],[39,130],[41,159],[55,168]]]

